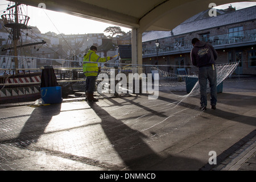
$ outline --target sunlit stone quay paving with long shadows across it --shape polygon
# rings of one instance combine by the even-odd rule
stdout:
[[[255,88],[254,78],[224,82],[217,109],[205,112],[199,97],[166,90],[158,100],[131,95],[0,105],[0,170],[199,170],[209,151],[221,156],[233,147],[228,157],[243,145],[236,161],[217,166],[254,170],[255,137],[234,144],[256,129]]]

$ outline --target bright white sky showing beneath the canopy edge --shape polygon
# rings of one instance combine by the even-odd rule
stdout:
[[[214,1],[213,1],[214,2]],[[0,0],[0,14],[3,14],[3,10],[6,10],[9,1]],[[236,10],[254,6],[256,2],[240,2],[229,3],[223,6],[217,6],[217,9],[226,9],[232,5],[236,7]],[[86,18],[80,18],[78,16],[68,15],[65,13],[59,13],[46,9],[39,9],[38,7],[23,6],[23,14],[30,16],[28,22],[29,26],[36,26],[39,28],[42,34],[46,32],[55,32],[56,34],[97,34],[104,33],[105,28],[110,26],[116,26],[114,24],[108,24],[104,22],[98,22]],[[122,31],[128,32],[131,29],[121,27]]]

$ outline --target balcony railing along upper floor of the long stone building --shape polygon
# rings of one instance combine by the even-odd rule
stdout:
[[[213,35],[208,37],[208,43],[212,44],[214,47],[246,42],[256,42],[256,29]],[[156,46],[147,46],[147,43],[143,43],[142,54],[146,56],[155,55],[156,51],[158,51],[158,53],[189,51],[192,48],[193,46],[191,44],[191,40],[184,40],[183,42],[162,43],[160,44],[159,48],[156,48]]]

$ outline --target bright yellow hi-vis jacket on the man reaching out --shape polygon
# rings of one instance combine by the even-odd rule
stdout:
[[[84,56],[84,62],[106,62],[110,60],[110,57],[100,57],[94,51],[89,50]],[[85,76],[98,76],[98,64],[97,63],[83,63],[82,70]]]

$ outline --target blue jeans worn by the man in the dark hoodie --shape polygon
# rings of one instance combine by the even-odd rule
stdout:
[[[207,106],[207,80],[210,86],[210,105],[215,106],[217,103],[217,78],[216,69],[212,66],[199,68],[199,85],[201,94],[201,106]]]

